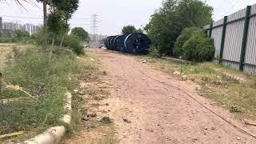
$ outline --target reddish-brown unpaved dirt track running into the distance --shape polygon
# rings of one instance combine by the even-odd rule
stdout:
[[[250,134],[256,134],[255,129],[235,121],[228,111],[199,96],[195,84],[154,70],[133,56],[92,51],[102,60],[102,70],[107,74],[104,81],[111,85],[110,98],[105,102],[110,105],[109,115],[120,143],[256,143],[255,138],[210,110]]]

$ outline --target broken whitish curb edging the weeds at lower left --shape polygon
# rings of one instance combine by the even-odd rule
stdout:
[[[71,122],[71,101],[72,95],[70,93],[66,93],[66,106],[64,107],[66,114],[61,118],[61,120],[67,124]],[[49,130],[46,130],[43,134],[39,134],[38,136],[27,140],[26,144],[54,144],[58,143],[62,136],[65,134],[65,127],[64,126],[56,126],[51,127]]]

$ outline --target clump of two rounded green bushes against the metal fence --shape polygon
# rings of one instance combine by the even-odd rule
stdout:
[[[214,39],[206,38],[204,30],[186,28],[174,44],[174,57],[192,62],[211,61],[214,58]]]

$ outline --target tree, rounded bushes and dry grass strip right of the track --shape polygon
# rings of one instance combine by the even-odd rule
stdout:
[[[151,56],[145,58],[158,70],[200,84],[199,94],[230,112],[254,117],[256,78],[211,62],[214,40],[207,38],[202,26],[213,21],[212,13],[213,8],[200,0],[165,0],[145,27],[152,40]],[[192,64],[161,57],[180,58]],[[246,82],[239,83],[223,73],[245,78]]]

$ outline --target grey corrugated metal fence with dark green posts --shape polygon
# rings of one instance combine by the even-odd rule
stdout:
[[[256,75],[256,4],[205,26],[214,38],[215,60]]]

